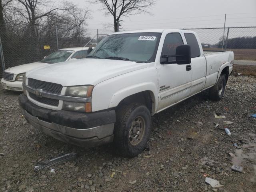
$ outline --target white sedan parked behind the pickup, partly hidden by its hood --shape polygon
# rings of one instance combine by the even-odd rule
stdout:
[[[59,49],[47,57],[44,57],[41,61],[8,68],[3,72],[1,84],[3,88],[7,90],[23,91],[22,78],[29,70],[68,60],[82,59],[85,58],[91,50],[92,48],[89,47]]]

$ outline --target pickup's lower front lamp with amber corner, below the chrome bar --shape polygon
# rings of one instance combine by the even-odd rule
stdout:
[[[77,102],[69,102],[63,101],[63,110],[68,111],[76,111],[76,112],[92,112],[92,103],[77,103]]]

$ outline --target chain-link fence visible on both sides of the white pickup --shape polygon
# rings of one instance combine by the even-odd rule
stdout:
[[[234,64],[256,65],[256,26],[190,28],[188,30],[197,32],[204,50],[232,50],[235,54]],[[56,28],[56,30],[33,38],[33,36],[19,36],[0,31],[2,42],[0,76],[2,76],[4,66],[8,68],[39,61],[61,48],[96,46],[104,36],[110,33],[112,31],[86,29],[83,30],[81,36],[65,35],[62,37],[58,36]]]

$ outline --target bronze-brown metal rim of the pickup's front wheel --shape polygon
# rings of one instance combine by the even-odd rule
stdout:
[[[131,145],[136,146],[142,141],[146,129],[145,126],[145,120],[142,116],[138,116],[133,120],[129,131],[129,141]]]

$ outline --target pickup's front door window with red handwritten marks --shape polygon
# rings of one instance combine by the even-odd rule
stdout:
[[[168,56],[176,54],[176,47],[183,45],[182,38],[179,33],[169,33],[164,39],[164,46],[162,54],[168,54]],[[172,58],[171,58],[172,59]],[[175,60],[175,58],[173,58]]]

